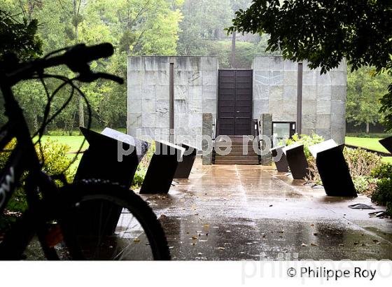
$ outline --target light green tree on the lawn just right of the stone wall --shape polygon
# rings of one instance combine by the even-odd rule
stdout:
[[[374,70],[363,67],[347,77],[346,120],[356,125],[365,124],[369,133],[370,124],[381,120],[379,99],[387,92],[388,74],[374,76]]]

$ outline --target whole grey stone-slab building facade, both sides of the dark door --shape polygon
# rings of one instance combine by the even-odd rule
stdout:
[[[176,142],[201,147],[202,114],[217,112],[216,57],[128,57],[128,133],[169,140],[169,66],[174,63]],[[302,133],[344,143],[346,64],[320,75],[303,65]],[[283,57],[253,61],[253,118],[296,121],[297,63]]]

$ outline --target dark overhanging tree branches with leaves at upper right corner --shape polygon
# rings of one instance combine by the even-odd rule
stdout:
[[[267,50],[283,57],[308,60],[321,73],[343,58],[351,71],[372,66],[392,75],[392,2],[376,0],[253,0],[239,10],[229,32],[270,35]],[[392,129],[392,83],[381,99],[384,125]]]

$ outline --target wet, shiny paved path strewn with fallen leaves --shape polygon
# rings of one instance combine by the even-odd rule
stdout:
[[[202,166],[168,195],[141,195],[174,260],[392,259],[392,220],[370,199],[328,197],[272,167]],[[375,210],[349,209],[370,204]]]

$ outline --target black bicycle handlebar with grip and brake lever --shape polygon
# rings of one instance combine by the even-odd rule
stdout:
[[[78,44],[65,49],[66,52],[62,55],[34,59],[30,62],[18,65],[17,69],[7,73],[8,83],[15,85],[20,80],[31,78],[37,71],[50,68],[51,66],[59,66],[65,64],[75,73],[79,73],[78,80],[91,82],[97,78],[108,78],[115,80],[118,83],[123,83],[123,79],[113,76],[108,73],[92,73],[90,71],[89,62],[96,59],[110,57],[113,55],[114,49],[111,43],[102,43],[98,45],[87,46],[85,44]]]

